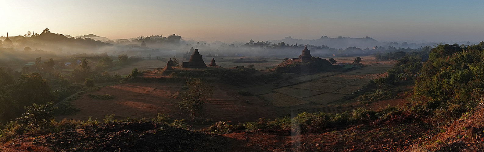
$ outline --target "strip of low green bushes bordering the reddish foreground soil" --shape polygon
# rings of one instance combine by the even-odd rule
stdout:
[[[286,130],[300,133],[323,133],[334,129],[341,129],[349,124],[361,124],[371,121],[387,121],[391,115],[399,114],[395,107],[386,107],[380,111],[371,111],[358,108],[351,112],[338,114],[315,112],[299,113],[293,118],[283,117],[274,120],[259,118],[256,122],[245,122],[244,124],[232,125],[227,122],[217,122],[209,129],[205,130],[211,133],[227,134],[238,130]]]

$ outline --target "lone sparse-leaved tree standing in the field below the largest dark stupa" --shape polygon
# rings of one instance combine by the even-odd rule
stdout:
[[[203,104],[209,97],[212,97],[213,86],[201,81],[200,78],[193,78],[186,82],[188,91],[181,93],[179,106],[190,113],[190,118],[195,120],[203,110]]]

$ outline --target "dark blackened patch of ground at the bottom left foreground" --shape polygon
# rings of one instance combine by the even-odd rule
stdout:
[[[38,137],[59,152],[217,152],[233,139],[152,122],[111,123],[72,128]]]

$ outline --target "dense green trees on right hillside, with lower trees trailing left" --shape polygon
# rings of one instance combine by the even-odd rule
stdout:
[[[374,82],[383,87],[414,83],[402,110],[434,125],[449,124],[483,99],[484,42],[439,44],[428,54],[427,48],[406,53],[388,76]]]

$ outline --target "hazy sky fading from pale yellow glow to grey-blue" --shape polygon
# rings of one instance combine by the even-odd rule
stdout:
[[[482,0],[0,0],[0,36],[484,41]]]

